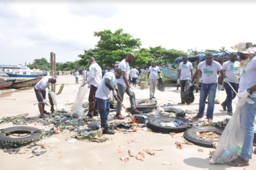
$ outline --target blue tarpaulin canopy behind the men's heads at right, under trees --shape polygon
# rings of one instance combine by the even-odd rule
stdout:
[[[204,61],[204,56],[205,55],[206,55],[206,53],[199,54],[199,55],[196,55],[196,56],[188,56],[188,61],[195,62],[195,61],[197,61],[198,58],[199,58],[199,60]],[[215,61],[221,61],[221,56],[222,55],[224,56],[223,57],[224,62],[230,59],[230,57],[229,57],[230,54],[227,53],[227,52],[220,51],[220,52],[212,53],[212,55],[214,55],[214,60]],[[237,60],[240,60],[239,56],[238,56]],[[178,64],[178,61],[182,61],[182,57],[176,58],[175,63]]]

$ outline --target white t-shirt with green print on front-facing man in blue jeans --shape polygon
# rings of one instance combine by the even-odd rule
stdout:
[[[217,72],[222,70],[219,62],[212,61],[211,66],[208,66],[206,61],[202,61],[197,68],[202,71],[203,83],[210,84],[218,82]]]

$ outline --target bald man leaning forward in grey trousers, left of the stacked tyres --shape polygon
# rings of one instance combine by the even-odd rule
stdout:
[[[133,53],[129,53],[127,54],[126,58],[124,58],[118,68],[122,70],[123,74],[121,76],[121,78],[117,79],[117,87],[118,90],[120,92],[121,95],[121,102],[123,102],[123,96],[124,93],[126,93],[127,95],[130,96],[130,102],[131,102],[131,109],[132,109],[132,114],[139,114],[142,112],[139,112],[136,109],[136,102],[135,102],[135,93],[133,92],[133,89],[131,88],[130,84],[129,84],[129,75],[130,75],[130,67],[129,67],[129,62],[133,62],[133,60],[135,59],[135,55]],[[119,102],[117,102],[117,108],[116,108],[116,118],[117,119],[123,119],[122,115],[121,115],[121,104]]]

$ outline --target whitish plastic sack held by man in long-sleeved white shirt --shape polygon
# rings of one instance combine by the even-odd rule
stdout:
[[[79,88],[74,105],[73,105],[73,111],[72,111],[73,117],[79,118],[83,116],[82,102],[84,97],[86,97],[88,90],[89,89],[87,86]]]

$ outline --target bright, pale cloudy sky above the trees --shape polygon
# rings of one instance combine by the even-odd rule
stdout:
[[[120,3],[122,2],[122,3]],[[140,38],[141,48],[218,50],[256,44],[256,2],[231,1],[11,1],[0,0],[0,65],[34,59],[75,61],[110,29]]]

